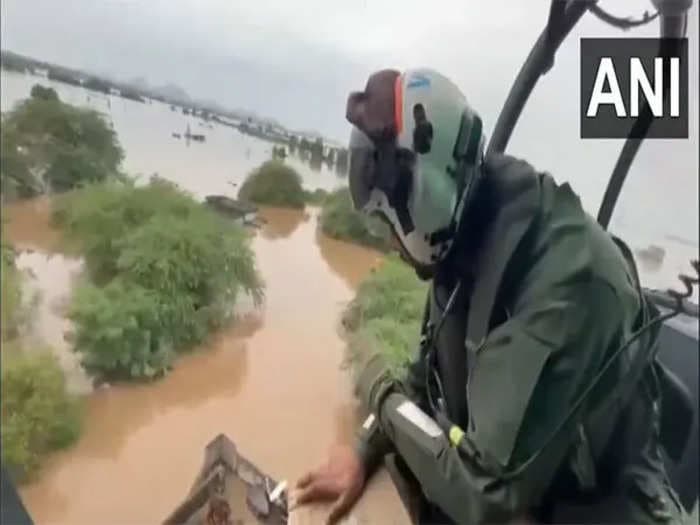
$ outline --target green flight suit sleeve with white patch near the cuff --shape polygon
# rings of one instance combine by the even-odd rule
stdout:
[[[464,446],[456,448],[400,392],[382,403],[380,426],[426,497],[456,522],[522,517],[540,503],[570,450],[578,420],[520,475],[509,479],[504,473],[543,446],[616,346],[629,317],[614,290],[599,281],[530,298],[476,352]]]

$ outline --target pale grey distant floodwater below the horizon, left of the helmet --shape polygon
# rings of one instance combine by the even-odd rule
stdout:
[[[27,98],[32,86],[41,83],[54,88],[64,102],[102,112],[119,136],[128,173],[144,177],[158,173],[199,197],[213,193],[235,196],[238,190],[231,183],[240,185],[252,169],[271,156],[272,143],[216,123],[209,128],[200,118],[183,115],[180,110],[171,111],[170,106],[160,102],[141,104],[7,71],[0,75],[0,82],[2,111]],[[206,142],[187,145],[184,139],[172,137],[173,133],[184,134],[188,126],[192,133],[204,134]],[[304,186],[309,190],[332,190],[344,184],[344,179],[325,165],[312,170],[296,157],[287,162],[303,175]]]

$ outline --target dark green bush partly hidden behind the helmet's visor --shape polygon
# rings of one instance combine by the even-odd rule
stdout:
[[[334,239],[380,250],[389,248],[389,227],[376,217],[356,211],[347,188],[336,190],[325,199],[320,224],[323,233]]]

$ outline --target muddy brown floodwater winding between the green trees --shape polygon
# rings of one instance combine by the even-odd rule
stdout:
[[[8,208],[6,231],[17,246],[55,248],[46,202]],[[262,470],[290,482],[333,443],[352,439],[357,423],[341,369],[339,316],[379,256],[318,234],[316,214],[265,210],[268,223],[253,240],[266,282],[262,307],[184,356],[164,379],[89,394],[79,442],[21,488],[36,523],[159,523],[221,432]],[[361,523],[404,516],[385,473],[355,510]]]

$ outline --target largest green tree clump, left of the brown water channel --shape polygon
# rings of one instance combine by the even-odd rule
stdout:
[[[262,298],[244,230],[174,185],[91,185],[62,196],[54,220],[80,243],[90,283],[69,317],[86,370],[150,379],[227,321],[241,291]]]

